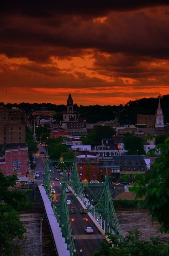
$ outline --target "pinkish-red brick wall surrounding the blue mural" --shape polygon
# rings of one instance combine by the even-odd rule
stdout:
[[[10,150],[5,153],[5,164],[0,164],[5,175],[17,174],[18,177],[24,177],[27,171],[27,149]],[[13,161],[20,162],[20,171],[13,170]]]

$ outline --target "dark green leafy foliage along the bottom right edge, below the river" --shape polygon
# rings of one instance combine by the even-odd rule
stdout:
[[[107,233],[107,243],[100,241],[101,247],[93,256],[167,256],[169,251],[158,238],[151,237],[150,241],[140,239],[139,230],[128,231],[123,241],[118,236]]]

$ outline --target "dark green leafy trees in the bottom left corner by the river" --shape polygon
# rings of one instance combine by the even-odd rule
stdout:
[[[14,188],[16,180],[16,175],[4,176],[0,172],[0,255],[20,255],[14,238],[22,239],[26,232],[16,209],[28,206],[29,201],[27,192]]]

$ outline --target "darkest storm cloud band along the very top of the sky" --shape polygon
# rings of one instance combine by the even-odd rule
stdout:
[[[109,11],[133,10],[168,4],[167,0],[1,0],[0,13],[48,18],[55,14],[105,15]]]

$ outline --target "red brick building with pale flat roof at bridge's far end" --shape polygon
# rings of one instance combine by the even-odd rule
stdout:
[[[81,180],[95,180],[99,171],[99,157],[87,154],[78,155],[77,168]]]

